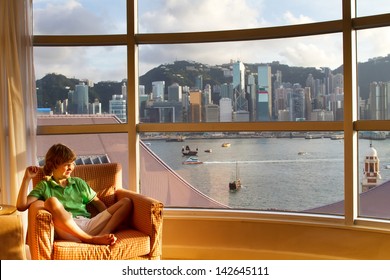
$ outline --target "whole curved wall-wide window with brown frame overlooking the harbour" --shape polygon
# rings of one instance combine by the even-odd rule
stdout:
[[[110,149],[122,153],[129,163],[137,163],[125,163],[129,188],[139,186],[142,193],[167,199],[170,193],[162,186],[169,180],[181,180],[193,187],[192,195],[207,197],[202,204],[193,205],[182,194],[180,203],[184,204],[171,200],[167,205],[172,207],[335,214],[351,223],[356,216],[353,206],[358,204],[358,215],[388,219],[363,211],[366,202],[362,196],[368,192],[361,188],[363,180],[372,182],[371,177],[361,177],[370,141],[381,163],[367,163],[367,172],[375,173],[387,164],[387,140],[379,144],[369,138],[377,132],[387,137],[389,131],[388,118],[383,115],[386,109],[379,106],[386,104],[388,79],[371,78],[368,74],[375,72],[364,72],[362,67],[375,64],[376,72],[386,73],[379,62],[388,63],[388,54],[380,50],[381,44],[373,44],[380,38],[380,43],[388,45],[386,11],[375,11],[371,9],[375,5],[363,0],[357,1],[358,17],[348,10],[353,7],[347,0],[294,1],[294,7],[285,1],[278,3],[277,9],[272,1],[261,2],[264,6],[260,1],[201,2],[204,5],[188,1],[139,1],[138,5],[130,0],[118,1],[118,5],[64,1],[49,7],[36,1],[37,73],[42,77],[62,74],[67,82],[75,79],[71,86],[64,83],[58,89],[62,98],[73,90],[67,87],[74,86],[76,91],[79,86],[83,92],[86,84],[80,82],[96,75],[92,80],[102,83],[99,97],[105,98],[102,111],[112,101],[117,118],[116,123],[102,119],[64,123],[59,119],[49,122],[49,116],[39,126],[40,136],[79,134],[83,138],[94,134],[99,141],[107,136],[114,142],[118,136],[117,145]],[[371,7],[364,8],[366,2]],[[91,3],[94,5],[89,6]],[[125,14],[133,10],[136,15]],[[348,16],[342,18],[342,10],[351,12],[352,22]],[[58,11],[61,17],[54,23],[71,22],[73,17],[78,22],[88,19],[88,24],[78,28],[62,24],[62,29],[54,23],[42,24],[53,14],[59,15]],[[372,16],[361,18],[366,15]],[[65,58],[62,53],[70,56]],[[71,66],[73,61],[75,66]],[[123,83],[126,105],[118,97]],[[38,98],[43,108],[54,109],[60,104],[49,101],[47,94],[54,93],[43,92],[49,88],[38,83]],[[94,97],[88,98],[88,107],[96,111],[99,102],[95,103]],[[225,114],[222,108],[230,111]],[[68,114],[69,119],[73,113]],[[122,119],[125,116],[127,119]],[[119,135],[127,140],[119,141]],[[220,138],[216,140],[217,135]],[[178,137],[185,137],[185,142],[177,141]],[[222,139],[231,146],[222,147]],[[190,149],[198,148],[202,164],[183,164],[187,157],[181,149],[187,144]],[[237,152],[239,157],[234,155]],[[161,178],[156,177],[161,168],[175,177],[165,176],[167,181],[148,189],[147,185]],[[228,183],[237,173],[242,189],[230,193]],[[380,174],[386,179],[384,173]],[[245,181],[248,174],[256,174],[257,182]],[[296,181],[299,184],[294,189],[287,187]],[[280,193],[287,196],[282,198]]]

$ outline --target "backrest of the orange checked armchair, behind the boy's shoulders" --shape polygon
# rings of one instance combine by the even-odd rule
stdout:
[[[38,175],[33,178],[33,186],[44,177],[40,168]],[[96,192],[110,186],[122,187],[122,166],[120,163],[102,163],[76,165],[72,177],[80,177]]]

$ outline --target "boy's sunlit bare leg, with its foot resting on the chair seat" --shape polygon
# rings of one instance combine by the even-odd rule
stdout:
[[[45,201],[45,209],[53,217],[54,227],[61,238],[67,240],[81,240],[86,243],[113,245],[116,237],[113,234],[91,236],[84,232],[73,220],[72,215],[64,209],[64,206],[55,197],[48,198]],[[73,236],[71,238],[69,235]]]

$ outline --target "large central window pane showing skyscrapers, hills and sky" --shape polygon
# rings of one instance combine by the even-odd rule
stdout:
[[[142,45],[140,118],[152,123],[340,121],[344,104],[341,45],[340,33]],[[155,64],[149,62],[150,57],[157,58]],[[215,110],[216,116],[207,115],[208,110]]]

